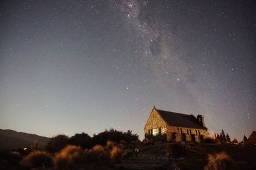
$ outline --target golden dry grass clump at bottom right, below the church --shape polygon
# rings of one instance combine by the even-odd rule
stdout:
[[[208,164],[204,170],[235,170],[235,162],[225,152],[216,153],[208,156]]]

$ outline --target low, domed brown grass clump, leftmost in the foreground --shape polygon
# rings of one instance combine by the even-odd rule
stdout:
[[[50,167],[52,166],[52,157],[47,152],[37,150],[24,157],[21,164],[27,167]]]

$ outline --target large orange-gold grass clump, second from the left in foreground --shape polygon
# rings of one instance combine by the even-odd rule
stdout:
[[[57,169],[76,169],[85,159],[85,153],[80,146],[68,145],[54,156],[54,166]]]

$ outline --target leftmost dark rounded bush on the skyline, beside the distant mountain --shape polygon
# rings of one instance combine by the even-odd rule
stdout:
[[[58,136],[54,136],[51,138],[46,145],[46,149],[49,152],[60,152],[63,148],[65,148],[70,143],[70,139],[65,134],[59,134]]]

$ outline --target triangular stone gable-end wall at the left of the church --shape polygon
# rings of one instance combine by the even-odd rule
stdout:
[[[163,118],[161,118],[161,116],[157,113],[156,109],[153,108],[149,118],[148,118],[148,122],[145,125],[144,128],[144,132],[145,135],[150,135],[148,134],[148,130],[151,131],[152,129],[156,129],[161,127],[161,129],[166,129],[167,124],[164,122]],[[164,132],[164,131],[162,131]]]

